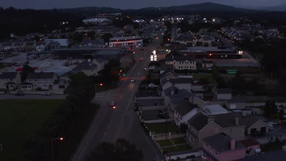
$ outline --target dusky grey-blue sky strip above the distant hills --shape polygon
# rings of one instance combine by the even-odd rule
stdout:
[[[202,2],[214,2],[235,7],[259,8],[286,4],[285,0],[0,0],[0,6],[32,9],[113,7],[138,9],[143,7],[167,7]]]

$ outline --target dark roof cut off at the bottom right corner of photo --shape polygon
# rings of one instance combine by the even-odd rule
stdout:
[[[236,161],[285,161],[286,152],[282,150],[270,151],[259,155],[252,155]]]

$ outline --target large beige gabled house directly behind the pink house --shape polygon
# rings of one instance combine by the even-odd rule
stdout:
[[[202,139],[223,132],[239,141],[244,139],[244,129],[240,113],[206,115],[199,112],[188,120],[187,139],[194,146],[203,147]]]

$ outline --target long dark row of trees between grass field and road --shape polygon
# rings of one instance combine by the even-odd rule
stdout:
[[[70,80],[69,94],[64,102],[51,114],[35,136],[25,142],[24,154],[28,161],[50,161],[51,139],[66,136],[68,138],[68,129],[81,119],[81,111],[87,108],[95,97],[93,79],[80,72],[72,74]],[[55,154],[56,147],[55,143]]]

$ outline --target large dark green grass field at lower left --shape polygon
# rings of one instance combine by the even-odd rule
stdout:
[[[64,100],[0,100],[0,161],[23,161],[23,144]]]

